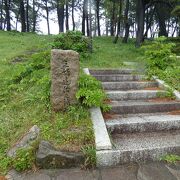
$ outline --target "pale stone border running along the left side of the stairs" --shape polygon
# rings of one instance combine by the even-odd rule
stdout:
[[[89,69],[84,68],[84,73],[90,75]],[[96,150],[108,150],[112,149],[110,137],[102,116],[100,108],[90,108],[91,120],[93,123],[93,130],[95,135]]]

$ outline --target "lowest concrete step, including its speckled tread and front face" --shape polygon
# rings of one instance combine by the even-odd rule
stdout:
[[[157,161],[166,154],[180,154],[180,131],[116,134],[112,136],[115,149],[97,153],[98,163],[111,166]],[[101,158],[102,159],[101,160]],[[107,162],[109,161],[109,162]]]

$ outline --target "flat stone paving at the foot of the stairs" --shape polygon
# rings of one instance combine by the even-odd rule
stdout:
[[[171,170],[176,173],[172,173]],[[93,170],[51,169],[18,173],[11,170],[7,180],[179,180],[179,164],[164,162],[133,163]]]

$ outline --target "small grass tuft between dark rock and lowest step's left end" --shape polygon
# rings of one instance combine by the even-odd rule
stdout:
[[[84,166],[86,168],[96,167],[96,149],[94,146],[84,146],[82,152],[85,156]]]

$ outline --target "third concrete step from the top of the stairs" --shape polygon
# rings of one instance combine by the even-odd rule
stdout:
[[[158,83],[154,81],[102,82],[102,86],[104,90],[138,90],[158,87]]]

